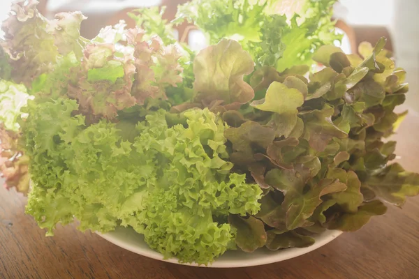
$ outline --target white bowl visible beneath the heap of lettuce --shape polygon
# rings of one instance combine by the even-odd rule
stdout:
[[[329,243],[333,239],[336,239],[342,232],[340,231],[325,231],[318,236],[315,236],[316,243],[307,248],[290,248],[285,250],[270,251],[265,248],[258,249],[255,252],[247,253],[241,250],[230,250],[221,257],[217,258],[212,264],[208,264],[207,267],[244,267],[244,266],[258,266],[261,264],[272,264],[273,262],[281,262],[286,259],[298,257],[300,255],[307,254],[312,250],[316,250],[321,246]],[[114,232],[108,232],[107,234],[99,234],[107,241],[114,243],[116,246],[122,247],[131,252],[135,252],[145,257],[152,259],[159,259],[163,262],[172,262],[179,264],[176,258],[163,259],[163,255],[156,252],[147,246],[144,241],[142,234],[138,234],[130,227],[117,227]],[[184,264],[188,266],[198,266],[196,263]],[[203,266],[203,265],[200,265]],[[203,266],[205,267],[205,266]]]

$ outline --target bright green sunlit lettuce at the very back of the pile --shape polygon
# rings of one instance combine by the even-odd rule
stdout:
[[[293,2],[290,7],[283,0],[194,0],[179,6],[174,22],[195,24],[210,44],[223,38],[237,40],[256,66],[273,66],[282,72],[311,65],[318,47],[339,39],[330,20],[335,0]]]

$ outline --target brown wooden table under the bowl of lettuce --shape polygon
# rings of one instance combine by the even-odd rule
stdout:
[[[396,136],[401,163],[419,172],[419,115],[410,114]],[[45,237],[26,199],[0,190],[0,278],[419,278],[419,197],[403,210],[390,207],[360,231],[286,262],[242,269],[203,269],[148,259],[74,225]]]

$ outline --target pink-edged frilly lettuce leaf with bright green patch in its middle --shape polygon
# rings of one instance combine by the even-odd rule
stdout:
[[[68,96],[78,100],[83,114],[113,119],[118,110],[135,105],[135,66],[129,56],[119,58],[116,52],[110,44],[86,45],[77,82],[68,84]]]

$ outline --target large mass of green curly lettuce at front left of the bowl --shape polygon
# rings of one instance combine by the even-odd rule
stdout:
[[[181,262],[207,264],[234,247],[228,214],[255,214],[262,191],[230,174],[226,124],[209,110],[145,117],[133,142],[102,120],[86,127],[75,100],[29,103],[24,122],[34,187],[27,212],[53,233],[57,223],[108,232],[120,223],[150,247]],[[128,126],[129,127],[129,126]]]

